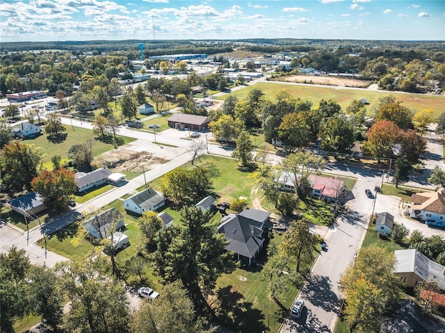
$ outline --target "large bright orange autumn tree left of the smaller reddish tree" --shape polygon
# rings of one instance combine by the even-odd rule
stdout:
[[[368,140],[363,144],[363,152],[380,158],[391,158],[393,148],[401,138],[402,131],[394,122],[381,120],[368,130]]]

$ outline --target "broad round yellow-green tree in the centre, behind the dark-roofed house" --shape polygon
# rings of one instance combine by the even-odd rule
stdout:
[[[209,168],[186,170],[176,168],[165,174],[162,179],[161,191],[165,197],[175,204],[192,204],[208,195],[212,188]]]

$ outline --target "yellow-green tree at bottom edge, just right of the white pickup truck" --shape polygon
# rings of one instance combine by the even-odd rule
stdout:
[[[131,323],[133,332],[204,333],[205,320],[197,318],[195,307],[180,281],[166,284],[154,302],[143,302]]]

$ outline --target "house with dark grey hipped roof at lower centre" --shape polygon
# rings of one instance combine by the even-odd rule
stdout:
[[[241,263],[252,263],[261,249],[267,236],[266,222],[270,213],[258,209],[245,209],[238,215],[229,214],[221,220],[218,232],[225,234],[225,250],[234,252]]]

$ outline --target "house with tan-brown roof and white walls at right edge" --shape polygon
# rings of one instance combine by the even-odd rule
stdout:
[[[445,222],[444,193],[424,192],[413,194],[410,217],[426,222]]]

